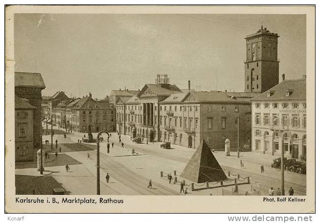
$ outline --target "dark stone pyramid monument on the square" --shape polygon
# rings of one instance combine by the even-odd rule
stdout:
[[[180,176],[195,183],[228,179],[204,140],[202,140]]]

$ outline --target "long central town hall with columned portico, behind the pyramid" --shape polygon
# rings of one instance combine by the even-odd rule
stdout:
[[[167,85],[167,84],[166,84]],[[138,96],[117,103],[117,130],[121,134],[149,137],[196,148],[205,139],[211,149],[224,150],[229,138],[237,148],[237,117],[239,143],[251,150],[251,102],[257,93],[182,92],[175,85],[146,84]],[[168,90],[170,89],[170,90]]]

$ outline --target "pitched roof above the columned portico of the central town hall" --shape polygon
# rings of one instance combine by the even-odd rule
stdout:
[[[147,88],[156,96],[170,96],[182,92],[176,85],[172,84],[145,84],[137,96],[144,97],[143,92],[145,92]]]

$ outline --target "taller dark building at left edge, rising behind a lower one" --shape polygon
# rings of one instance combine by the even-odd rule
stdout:
[[[28,155],[28,159],[36,160],[36,152],[40,149],[40,135],[41,133],[41,91],[45,89],[45,84],[43,82],[42,76],[39,73],[22,73],[15,72],[15,96],[18,98],[28,99],[30,103],[35,108],[32,109],[33,116],[33,148],[32,155]],[[31,115],[30,112],[28,114]],[[16,119],[15,121],[17,121]],[[19,147],[20,149],[20,147]],[[23,158],[21,158],[23,159]],[[27,158],[26,158],[27,159]],[[25,160],[26,160],[25,159]]]

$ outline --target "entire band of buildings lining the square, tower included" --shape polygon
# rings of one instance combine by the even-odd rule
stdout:
[[[279,81],[278,37],[263,27],[246,36],[244,92],[195,91],[190,81],[181,89],[158,74],[141,90],[112,90],[101,100],[62,91],[41,100],[41,74],[15,73],[16,159],[35,159],[41,119],[71,132],[117,130],[192,149],[204,139],[224,150],[229,140],[234,151],[239,135],[241,151],[279,156],[284,149],[287,158],[305,159],[306,76]]]

